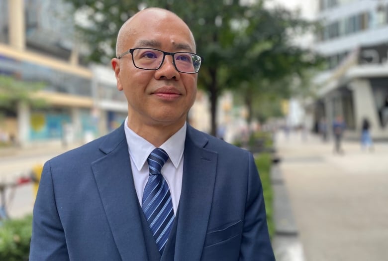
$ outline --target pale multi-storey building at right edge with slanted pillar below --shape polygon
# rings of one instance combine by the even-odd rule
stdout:
[[[319,0],[323,30],[314,49],[329,70],[319,86],[315,122],[342,116],[347,136],[359,138],[363,119],[375,140],[388,140],[388,0]],[[331,128],[328,128],[329,131]]]

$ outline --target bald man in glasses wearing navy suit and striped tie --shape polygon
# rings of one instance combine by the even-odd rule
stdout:
[[[30,261],[275,260],[252,154],[186,123],[200,66],[186,23],[142,10],[116,52],[128,117],[45,164]]]

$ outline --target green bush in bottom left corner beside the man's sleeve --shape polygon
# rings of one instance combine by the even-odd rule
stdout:
[[[0,260],[28,260],[32,216],[6,220],[0,224]]]

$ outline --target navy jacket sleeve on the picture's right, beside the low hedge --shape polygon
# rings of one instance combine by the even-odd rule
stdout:
[[[249,154],[247,200],[239,260],[275,261],[268,233],[263,186],[253,155]]]

